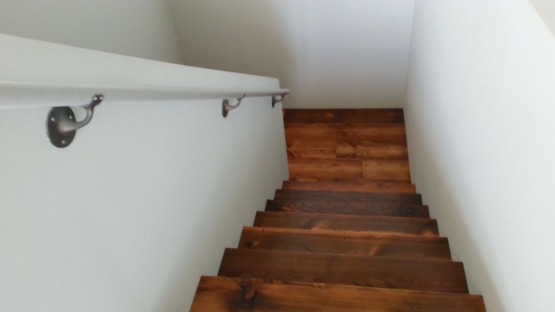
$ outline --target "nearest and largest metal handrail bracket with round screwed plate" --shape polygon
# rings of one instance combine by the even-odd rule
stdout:
[[[92,97],[89,104],[82,106],[87,115],[81,121],[75,120],[75,114],[69,106],[53,107],[50,113],[48,113],[46,121],[48,137],[52,145],[60,148],[69,146],[75,137],[77,129],[83,128],[91,122],[95,106],[100,104],[103,99],[104,96],[96,94]]]

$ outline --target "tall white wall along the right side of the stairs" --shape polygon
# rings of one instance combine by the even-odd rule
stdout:
[[[488,311],[555,307],[555,39],[526,0],[416,2],[411,173]]]

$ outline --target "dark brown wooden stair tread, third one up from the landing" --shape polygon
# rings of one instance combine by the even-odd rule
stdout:
[[[266,211],[315,212],[368,216],[429,218],[427,206],[406,203],[336,202],[325,200],[277,199],[266,202]]]

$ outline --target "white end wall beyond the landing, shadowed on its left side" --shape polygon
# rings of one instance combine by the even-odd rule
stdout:
[[[401,107],[414,0],[169,0],[185,64],[278,77],[289,108]]]

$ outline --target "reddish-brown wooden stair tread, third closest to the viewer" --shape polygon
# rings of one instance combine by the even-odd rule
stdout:
[[[239,248],[451,260],[444,237],[244,227]]]

